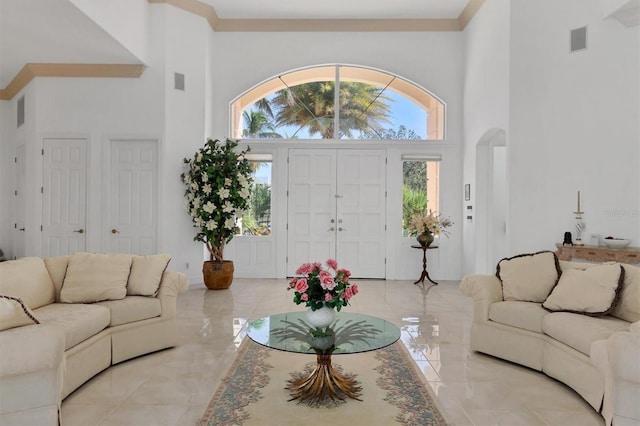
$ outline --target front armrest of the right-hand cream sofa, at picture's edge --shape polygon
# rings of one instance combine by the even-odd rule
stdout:
[[[613,385],[613,424],[640,423],[640,321],[607,342]]]

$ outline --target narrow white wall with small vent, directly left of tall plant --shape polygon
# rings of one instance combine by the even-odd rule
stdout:
[[[171,268],[186,272],[192,283],[202,282],[203,246],[193,241],[195,231],[185,209],[184,184],[180,182],[182,159],[191,157],[205,142],[207,51],[211,29],[206,20],[172,6],[164,9],[165,145],[162,165],[162,243],[172,255]],[[155,16],[155,21],[162,18]],[[154,22],[155,22],[154,21]],[[174,73],[184,74],[185,90],[174,89]],[[187,264],[189,267],[187,268]]]

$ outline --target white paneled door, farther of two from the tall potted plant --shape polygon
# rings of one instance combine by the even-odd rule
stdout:
[[[44,139],[42,255],[85,250],[87,208],[86,139]]]

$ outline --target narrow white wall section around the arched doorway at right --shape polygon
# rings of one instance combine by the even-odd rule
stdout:
[[[509,129],[509,0],[487,0],[464,31],[464,172],[463,182],[471,185],[471,200],[463,214],[472,216],[462,223],[463,270],[489,272],[485,246],[488,239],[488,201],[485,195],[489,177],[476,180],[491,164],[490,145],[497,133]],[[487,150],[483,155],[479,150]],[[476,170],[477,161],[484,166]],[[472,210],[468,212],[467,206]],[[480,240],[476,239],[476,236]]]

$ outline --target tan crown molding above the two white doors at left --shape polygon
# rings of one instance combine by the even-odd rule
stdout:
[[[139,78],[145,66],[138,64],[48,64],[28,63],[4,89],[0,100],[11,100],[36,77]]]

